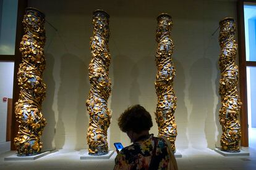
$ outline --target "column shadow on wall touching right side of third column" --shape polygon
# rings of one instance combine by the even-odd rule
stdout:
[[[176,59],[173,59],[173,63],[174,67],[176,68],[176,77],[174,78],[173,88],[177,97],[177,108],[175,111],[176,113],[174,113],[177,124],[177,139],[181,141],[180,143],[182,148],[187,148],[189,145],[189,140],[187,138],[188,113],[185,105],[186,78],[182,64]]]

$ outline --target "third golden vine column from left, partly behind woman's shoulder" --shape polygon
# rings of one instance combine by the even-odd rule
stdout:
[[[157,20],[156,41],[158,48],[155,61],[158,73],[156,74],[155,88],[158,103],[155,113],[156,123],[158,124],[158,135],[166,137],[171,142],[171,149],[176,152],[177,126],[174,119],[176,96],[173,91],[173,79],[176,71],[171,59],[174,44],[170,35],[173,21],[168,14],[159,15]]]

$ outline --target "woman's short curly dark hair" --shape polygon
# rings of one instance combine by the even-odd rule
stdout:
[[[142,131],[150,130],[153,126],[152,118],[145,108],[140,105],[128,107],[118,118],[118,126],[121,131],[133,131],[139,134]]]

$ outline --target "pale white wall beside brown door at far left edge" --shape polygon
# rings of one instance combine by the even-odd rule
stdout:
[[[12,99],[14,81],[14,63],[0,62],[0,142],[6,142],[7,102],[2,98]]]

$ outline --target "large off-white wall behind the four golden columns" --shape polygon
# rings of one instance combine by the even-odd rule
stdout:
[[[117,118],[129,105],[139,103],[150,111],[155,135],[155,30],[156,17],[167,12],[173,17],[173,60],[177,76],[177,148],[210,147],[219,143],[218,95],[219,21],[236,19],[235,1],[29,1],[46,14],[47,42],[44,72],[48,86],[43,114],[48,124],[43,132],[45,148],[87,148],[88,64],[91,59],[92,12],[104,9],[110,15],[110,76],[113,92],[109,108],[113,117],[109,143],[129,145],[117,126]]]

